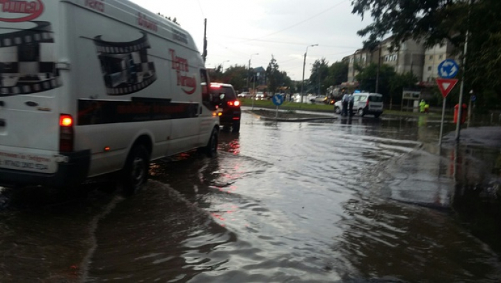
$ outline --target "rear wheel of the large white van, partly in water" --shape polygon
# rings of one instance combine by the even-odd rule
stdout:
[[[134,195],[148,180],[148,168],[150,168],[150,154],[143,145],[132,148],[125,167],[123,168],[122,192],[124,195]]]

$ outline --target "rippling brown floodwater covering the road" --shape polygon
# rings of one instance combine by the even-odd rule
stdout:
[[[0,282],[500,282],[499,149],[439,120],[244,113],[133,197],[0,188]]]

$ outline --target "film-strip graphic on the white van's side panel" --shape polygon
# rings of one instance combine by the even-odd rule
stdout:
[[[150,86],[156,79],[148,62],[148,35],[131,42],[109,42],[94,38],[108,95],[128,95]]]

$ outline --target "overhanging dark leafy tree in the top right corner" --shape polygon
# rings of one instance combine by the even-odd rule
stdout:
[[[466,89],[501,95],[500,0],[352,0],[353,14],[374,19],[358,35],[367,36],[364,47],[374,46],[391,34],[398,47],[408,39],[421,40],[425,47],[449,40],[461,54],[468,31]],[[499,97],[498,97],[499,98]]]

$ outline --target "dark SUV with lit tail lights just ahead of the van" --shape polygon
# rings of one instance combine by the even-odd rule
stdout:
[[[223,126],[223,130],[232,128],[234,133],[239,132],[241,118],[240,102],[237,99],[233,86],[229,83],[211,83],[210,92],[213,95],[217,95],[220,99],[219,120],[221,126]]]

